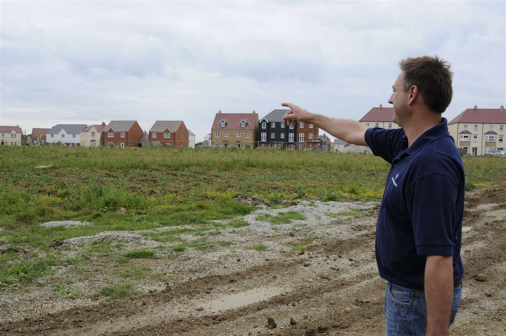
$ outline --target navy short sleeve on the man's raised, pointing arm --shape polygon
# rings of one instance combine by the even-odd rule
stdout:
[[[400,139],[404,134],[403,129],[388,130],[374,127],[365,131],[364,138],[374,155],[381,156],[392,164],[396,149],[400,146]]]

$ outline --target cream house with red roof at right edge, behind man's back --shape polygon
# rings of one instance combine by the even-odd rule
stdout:
[[[506,111],[499,108],[468,108],[448,122],[457,148],[470,155],[489,155],[506,146]]]

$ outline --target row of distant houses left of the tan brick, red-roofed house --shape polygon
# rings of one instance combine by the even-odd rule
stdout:
[[[21,146],[23,134],[19,126],[0,126],[2,145]],[[6,134],[9,136],[6,137]],[[4,138],[6,139],[4,141]],[[32,129],[26,144],[83,147],[195,147],[195,134],[184,121],[156,121],[149,132],[142,131],[136,120],[112,120],[102,124],[58,124],[51,129]]]

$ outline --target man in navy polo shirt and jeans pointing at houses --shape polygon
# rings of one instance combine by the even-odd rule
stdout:
[[[447,335],[460,303],[465,175],[441,114],[450,104],[450,64],[407,58],[392,86],[399,129],[367,128],[291,103],[287,124],[310,122],[390,164],[376,224],[376,262],[386,279],[386,335]]]

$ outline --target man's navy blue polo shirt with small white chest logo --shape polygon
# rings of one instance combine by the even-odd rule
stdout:
[[[466,184],[446,119],[409,148],[400,128],[367,129],[365,141],[374,155],[391,164],[376,224],[379,275],[399,286],[423,289],[426,256],[453,256],[453,279],[462,278]]]

